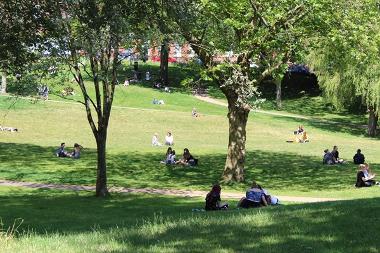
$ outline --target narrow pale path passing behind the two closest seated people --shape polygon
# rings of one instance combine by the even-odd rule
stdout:
[[[12,180],[0,180],[1,186],[25,187],[32,189],[55,189],[55,190],[71,190],[71,191],[95,191],[95,186],[86,185],[68,185],[68,184],[45,184],[36,182],[23,182]],[[110,187],[110,192],[116,193],[144,193],[144,194],[157,194],[178,197],[204,197],[206,191],[193,191],[193,190],[177,190],[177,189],[157,189],[157,188],[125,188],[125,187]],[[224,199],[240,199],[243,193],[223,192]],[[294,197],[294,196],[276,196],[281,201],[285,202],[299,202],[299,203],[315,203],[326,201],[337,201],[337,198],[316,198],[316,197]]]

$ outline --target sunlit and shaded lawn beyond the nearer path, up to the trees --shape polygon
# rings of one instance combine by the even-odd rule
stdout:
[[[121,87],[120,87],[121,88]],[[119,88],[118,88],[119,89]],[[148,88],[131,86],[116,97],[144,103],[145,107],[117,105],[113,108],[108,137],[109,185],[208,190],[220,180],[228,143],[227,109],[211,105],[182,93],[164,93],[167,104],[152,105],[152,96],[161,94]],[[133,94],[138,94],[134,96]],[[153,94],[153,95],[152,95]],[[20,100],[7,109],[11,100],[0,98],[2,124],[15,126],[18,133],[0,132],[0,178],[66,184],[95,183],[95,142],[83,106],[54,101],[30,103]],[[191,109],[200,108],[200,118]],[[132,107],[132,108],[131,108]],[[178,110],[176,110],[178,109]],[[303,124],[310,143],[287,143],[292,132]],[[332,130],[333,129],[333,130]],[[166,147],[152,147],[157,132],[163,140],[167,131],[175,137],[174,148],[180,156],[187,147],[200,159],[195,168],[165,166]],[[85,147],[79,160],[59,159],[54,151],[61,142]],[[378,140],[356,136],[345,128],[324,122],[251,113],[247,126],[247,181],[223,185],[240,191],[252,180],[276,195],[337,198],[379,197],[379,188],[363,194],[355,189],[356,166],[323,166],[323,149],[338,145],[342,158],[351,162],[357,148],[375,170],[380,165]]]

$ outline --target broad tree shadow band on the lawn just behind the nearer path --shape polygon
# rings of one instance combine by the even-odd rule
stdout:
[[[54,147],[0,142],[0,178],[45,183],[94,185],[96,151],[85,149],[79,160],[57,158]],[[164,154],[119,153],[108,155],[108,185],[209,190],[220,180],[224,154],[197,155],[199,166],[160,164]],[[373,164],[377,166],[377,164]],[[247,153],[246,183],[229,188],[244,191],[252,180],[274,190],[319,191],[351,187],[356,165],[326,166],[321,159],[294,153]]]

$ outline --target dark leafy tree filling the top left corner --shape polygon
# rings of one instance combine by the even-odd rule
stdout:
[[[0,1],[0,93],[7,91],[8,74],[20,74],[38,59],[36,49],[44,40],[49,20],[50,1]]]

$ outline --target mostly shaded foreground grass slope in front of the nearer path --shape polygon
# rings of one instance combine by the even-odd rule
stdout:
[[[202,199],[0,187],[0,252],[379,252],[380,199],[192,212]],[[8,227],[21,226],[12,234]]]

